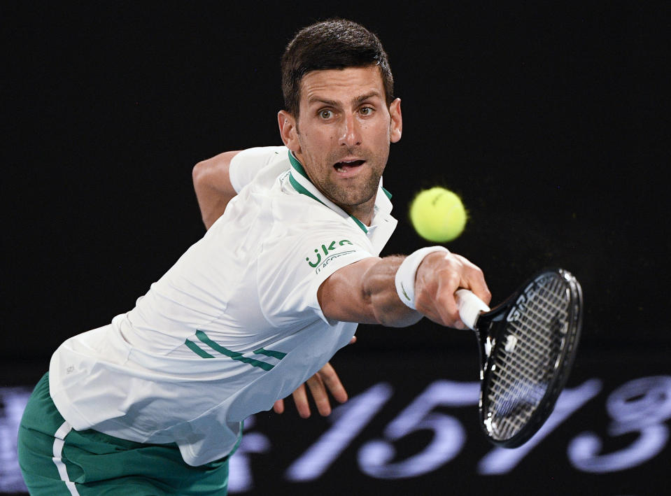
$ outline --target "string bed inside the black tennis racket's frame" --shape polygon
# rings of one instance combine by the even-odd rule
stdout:
[[[528,423],[554,374],[569,317],[570,294],[558,276],[539,281],[498,339],[490,366],[486,419],[509,439]]]

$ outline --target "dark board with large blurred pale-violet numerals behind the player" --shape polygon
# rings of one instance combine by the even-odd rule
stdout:
[[[579,353],[542,430],[515,449],[480,432],[473,353],[341,350],[350,399],[331,416],[257,413],[230,462],[229,494],[665,493],[671,374],[654,352]],[[0,493],[22,493],[15,442],[30,386],[0,390]]]

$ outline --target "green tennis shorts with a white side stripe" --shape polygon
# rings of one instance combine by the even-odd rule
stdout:
[[[73,430],[52,402],[48,373],[23,413],[18,455],[31,495],[227,494],[228,457],[192,467],[176,444],[142,444]]]

